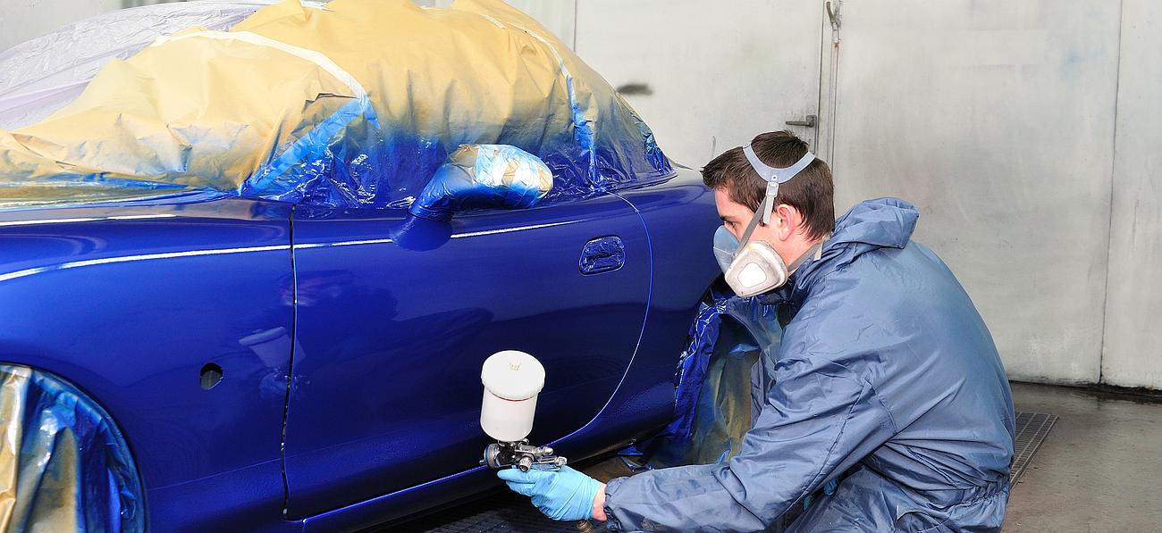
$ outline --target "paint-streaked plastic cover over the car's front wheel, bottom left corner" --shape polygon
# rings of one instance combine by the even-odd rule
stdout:
[[[145,530],[129,447],[84,392],[0,365],[0,531]]]

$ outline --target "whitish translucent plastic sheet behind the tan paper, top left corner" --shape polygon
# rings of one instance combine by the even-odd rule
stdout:
[[[273,2],[196,0],[119,9],[0,51],[0,129],[40,122],[76,100],[109,59],[127,59],[192,26],[230,29]]]

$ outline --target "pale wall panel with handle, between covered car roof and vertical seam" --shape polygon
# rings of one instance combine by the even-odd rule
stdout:
[[[616,14],[616,15],[611,15]],[[822,3],[582,0],[576,52],[654,130],[701,167],[754,134],[818,115]],[[795,128],[815,141],[815,129]]]

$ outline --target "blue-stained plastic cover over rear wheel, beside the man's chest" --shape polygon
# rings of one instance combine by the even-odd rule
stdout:
[[[674,418],[644,452],[650,467],[722,462],[751,428],[760,358],[773,358],[782,329],[774,305],[712,291],[690,326],[690,343],[674,376]],[[774,365],[767,365],[774,367]]]

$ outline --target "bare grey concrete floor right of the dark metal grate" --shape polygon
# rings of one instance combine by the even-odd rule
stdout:
[[[1009,494],[1005,533],[1162,527],[1162,403],[1013,383],[1018,411],[1056,424]]]

